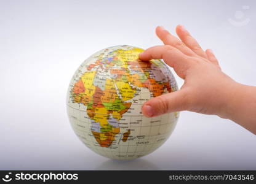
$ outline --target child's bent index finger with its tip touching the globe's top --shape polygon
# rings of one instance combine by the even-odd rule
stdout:
[[[171,45],[158,45],[146,49],[140,53],[140,59],[149,61],[151,59],[164,59],[164,62],[173,67],[178,76],[185,79],[186,70],[190,66],[190,58]]]

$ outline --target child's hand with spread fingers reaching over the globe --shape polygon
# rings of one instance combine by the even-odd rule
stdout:
[[[167,112],[190,110],[233,120],[233,113],[237,113],[238,109],[233,106],[241,105],[236,104],[239,101],[237,98],[243,98],[238,91],[246,88],[245,85],[224,74],[212,51],[204,52],[183,26],[177,26],[176,31],[180,40],[158,26],[156,34],[164,45],[148,48],[140,53],[140,59],[164,59],[185,82],[180,90],[145,102],[142,107],[143,114],[154,117]],[[255,90],[255,87],[252,88]],[[247,129],[254,129],[250,131],[256,131],[255,123],[253,127],[246,126],[243,122],[239,124]]]

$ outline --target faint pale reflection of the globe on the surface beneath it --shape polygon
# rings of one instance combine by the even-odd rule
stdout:
[[[150,161],[137,158],[129,161],[109,159],[98,166],[95,170],[157,170],[158,167]]]

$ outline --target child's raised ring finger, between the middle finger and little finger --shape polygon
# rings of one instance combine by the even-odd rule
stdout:
[[[204,53],[204,50],[200,47],[196,39],[194,39],[190,33],[185,29],[184,26],[178,25],[176,28],[176,33],[178,34],[178,37],[182,40],[184,44],[191,50],[193,50],[194,53],[197,55],[207,58],[206,53]]]

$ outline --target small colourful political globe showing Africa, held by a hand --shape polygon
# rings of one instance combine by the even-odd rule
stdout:
[[[71,79],[66,107],[75,134],[90,150],[134,159],[160,147],[174,131],[178,112],[147,118],[142,105],[178,90],[160,59],[141,61],[142,48],[108,47],[87,58]]]

